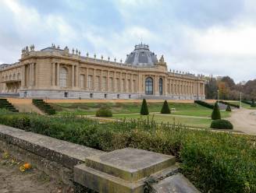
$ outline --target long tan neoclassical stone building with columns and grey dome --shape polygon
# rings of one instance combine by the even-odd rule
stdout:
[[[81,56],[52,44],[22,50],[19,62],[0,65],[1,93],[20,97],[94,99],[204,99],[204,77],[167,70],[163,56],[138,44],[126,61]]]

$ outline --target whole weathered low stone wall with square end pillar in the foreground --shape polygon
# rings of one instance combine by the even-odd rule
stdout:
[[[161,153],[130,148],[105,153],[5,125],[0,149],[65,184],[97,192],[198,192],[178,174],[175,157]]]

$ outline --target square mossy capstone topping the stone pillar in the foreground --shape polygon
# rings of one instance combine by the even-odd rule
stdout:
[[[176,160],[174,156],[126,148],[87,157],[85,162],[87,167],[132,182],[164,170]]]

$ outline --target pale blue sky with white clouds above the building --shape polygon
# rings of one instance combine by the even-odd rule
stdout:
[[[170,69],[256,79],[255,0],[0,0],[0,64],[23,47],[125,60],[135,44]]]

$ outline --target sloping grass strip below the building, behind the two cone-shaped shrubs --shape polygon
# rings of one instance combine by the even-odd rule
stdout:
[[[148,103],[150,112],[160,112],[162,103]],[[87,104],[52,104],[57,114],[76,114],[86,115],[95,114],[100,107],[111,107],[113,114],[130,114],[140,112],[141,103],[87,103]],[[208,111],[208,108],[201,107],[198,104],[169,103],[170,108],[176,108],[176,111]]]

